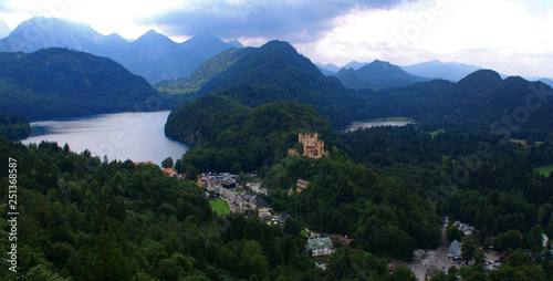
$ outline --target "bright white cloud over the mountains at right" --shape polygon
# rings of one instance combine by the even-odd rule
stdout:
[[[296,44],[314,61],[461,61],[505,74],[553,75],[551,10],[513,0],[440,0],[393,10],[356,9],[334,19],[314,43]],[[539,6],[539,3],[536,3]]]

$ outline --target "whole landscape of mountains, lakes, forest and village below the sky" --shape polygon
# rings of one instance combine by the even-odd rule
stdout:
[[[226,41],[40,18],[0,40],[0,156],[18,163],[0,192],[21,209],[0,279],[553,277],[546,83]]]

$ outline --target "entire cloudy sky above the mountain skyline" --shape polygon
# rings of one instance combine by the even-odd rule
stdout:
[[[553,77],[551,0],[1,0],[14,29],[33,15],[88,23],[136,39],[149,29],[258,46],[285,40],[314,62],[438,59],[508,75]]]

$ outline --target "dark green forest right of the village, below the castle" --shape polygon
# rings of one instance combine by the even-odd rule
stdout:
[[[461,270],[463,280],[553,275],[541,237],[553,236],[553,177],[534,170],[553,163],[550,143],[523,146],[498,136],[428,134],[415,126],[338,137],[330,157],[289,156],[272,167],[263,178],[272,190],[271,206],[319,231],[346,233],[367,252],[403,260],[410,260],[416,248],[437,247],[440,218],[449,216],[478,230],[465,237],[450,227],[450,240],[504,252],[500,270],[486,275],[478,260]],[[311,186],[290,195],[298,178]]]

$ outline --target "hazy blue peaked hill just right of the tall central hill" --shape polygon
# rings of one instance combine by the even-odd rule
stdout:
[[[406,86],[430,79],[409,74],[399,66],[375,60],[357,70],[342,69],[335,74],[345,87],[380,90],[389,86]]]

